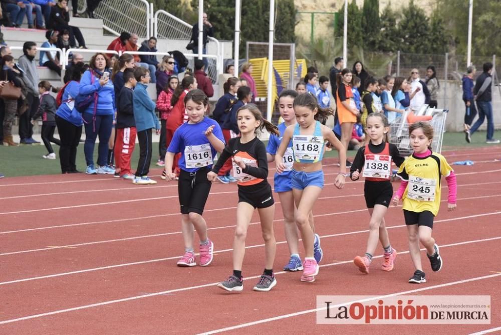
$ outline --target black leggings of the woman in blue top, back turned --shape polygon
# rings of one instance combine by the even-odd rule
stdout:
[[[59,161],[61,162],[61,172],[77,171],[75,160],[77,158],[77,146],[82,135],[82,126],[73,123],[56,115],[61,146],[59,148]]]

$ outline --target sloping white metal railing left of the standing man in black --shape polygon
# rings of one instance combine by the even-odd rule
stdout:
[[[158,10],[153,17],[153,27],[153,35],[156,38],[168,40],[185,40],[187,43],[191,39],[191,31],[193,25],[182,21],[181,19],[164,10]],[[210,42],[214,42],[216,45],[216,57],[210,55],[203,56],[209,59],[215,58],[215,64],[213,62],[209,62],[208,69],[205,70],[212,82],[215,82],[217,80],[217,75],[223,72],[222,48],[219,41],[215,38],[209,36],[208,40]],[[186,58],[188,58],[188,55],[190,54],[184,54]]]

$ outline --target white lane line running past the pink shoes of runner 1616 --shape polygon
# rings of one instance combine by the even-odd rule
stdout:
[[[471,218],[477,218],[477,217],[488,216],[488,215],[496,215],[496,214],[501,214],[501,212],[493,212],[493,213],[486,213],[486,214],[469,215],[469,216],[465,216],[465,217],[452,218],[452,219],[442,219],[442,220],[435,221],[435,223],[449,222],[449,221],[458,221],[458,220],[471,219]],[[277,220],[277,221],[279,221],[279,220]],[[280,221],[283,221],[283,220],[280,220]],[[259,224],[259,222],[254,222],[252,224]],[[395,228],[403,228],[405,226],[406,225],[387,226],[386,228],[387,229],[395,229]],[[233,226],[228,226],[228,227],[233,227]],[[219,228],[222,228],[222,227],[219,227]],[[338,237],[338,236],[345,236],[345,235],[355,235],[355,234],[368,233],[368,232],[369,232],[369,230],[367,229],[367,230],[358,230],[358,231],[347,232],[347,233],[338,233],[338,234],[332,234],[332,235],[323,235],[323,236],[320,236],[320,237],[321,238],[331,238],[331,237]],[[498,237],[494,237],[494,238],[491,238],[491,239],[495,240],[495,239],[498,239]],[[301,239],[299,239],[299,240],[302,241]],[[487,241],[487,240],[489,240],[489,239],[485,239],[485,241]],[[284,244],[284,243],[287,243],[287,241],[277,242],[277,244]],[[246,246],[245,249],[259,248],[259,247],[264,247],[264,246],[265,246],[264,244],[258,244],[258,245]],[[217,253],[230,252],[230,251],[233,251],[233,249],[218,250],[218,251],[214,251],[214,253],[217,254]],[[0,282],[0,285],[13,284],[13,283],[19,283],[19,282],[31,281],[31,280],[37,280],[37,279],[53,278],[53,277],[59,277],[59,276],[66,276],[66,275],[77,274],[77,273],[93,272],[93,271],[98,271],[98,270],[113,269],[113,268],[125,267],[125,266],[130,266],[130,265],[139,265],[139,264],[147,264],[147,263],[154,263],[154,262],[163,262],[163,261],[166,261],[166,260],[179,259],[180,257],[181,256],[174,256],[174,257],[167,257],[167,258],[158,258],[158,259],[150,259],[150,260],[146,260],[146,261],[138,261],[138,262],[124,263],[124,264],[115,264],[115,265],[102,266],[102,267],[91,268],[91,269],[84,269],[84,270],[77,270],[77,271],[71,271],[71,272],[56,273],[56,274],[45,275],[45,276],[38,276],[38,277],[17,279],[17,280],[11,280],[11,281],[6,281],[6,282]],[[374,258],[376,258],[376,257],[381,257],[381,256],[375,256]],[[324,266],[324,265],[321,265],[321,266]]]

